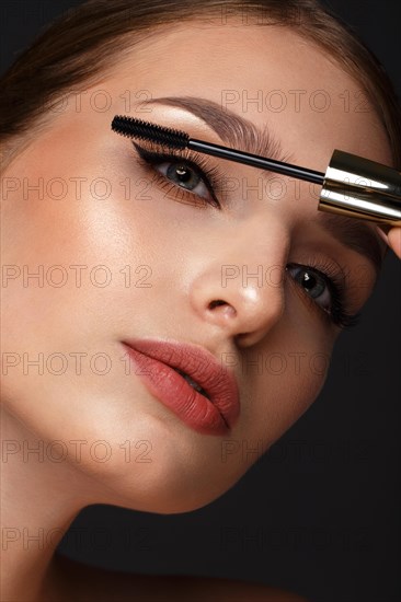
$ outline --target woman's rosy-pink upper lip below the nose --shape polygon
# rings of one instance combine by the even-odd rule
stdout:
[[[206,391],[227,426],[233,426],[240,414],[237,380],[210,351],[175,340],[131,339],[124,340],[124,344],[188,374]]]

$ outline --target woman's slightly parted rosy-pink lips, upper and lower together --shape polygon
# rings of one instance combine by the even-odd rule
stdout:
[[[237,380],[206,349],[179,341],[125,340],[136,371],[150,393],[187,426],[206,435],[227,435],[240,414]],[[205,390],[197,392],[174,368]]]

